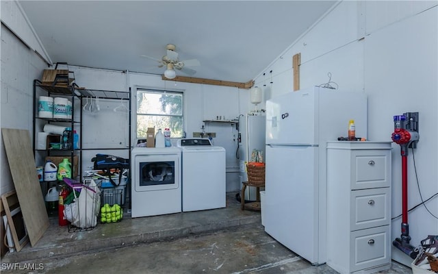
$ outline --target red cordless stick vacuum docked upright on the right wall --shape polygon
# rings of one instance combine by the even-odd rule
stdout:
[[[392,242],[394,247],[400,249],[409,257],[415,259],[418,250],[409,244],[408,224],[408,149],[415,149],[420,138],[418,134],[418,112],[407,112],[394,116],[394,132],[392,140],[400,145],[402,155],[402,235]]]

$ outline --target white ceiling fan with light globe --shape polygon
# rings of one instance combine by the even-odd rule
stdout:
[[[178,53],[175,51],[177,47],[173,44],[166,45],[167,53],[162,57],[161,60],[153,58],[147,55],[140,55],[140,57],[149,58],[159,62],[158,67],[166,66],[166,71],[164,71],[164,76],[168,79],[173,79],[177,77],[175,69],[187,74],[194,75],[196,71],[194,69],[188,68],[188,66],[201,66],[201,63],[196,59],[180,61],[178,58]]]

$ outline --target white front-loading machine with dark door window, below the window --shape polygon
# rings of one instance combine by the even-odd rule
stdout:
[[[131,177],[132,218],[181,212],[181,149],[134,148]]]

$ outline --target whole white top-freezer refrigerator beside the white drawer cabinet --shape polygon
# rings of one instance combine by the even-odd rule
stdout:
[[[312,87],[266,102],[265,230],[311,264],[326,262],[326,141],[367,136],[364,92]]]

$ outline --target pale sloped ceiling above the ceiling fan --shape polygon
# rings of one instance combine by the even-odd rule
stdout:
[[[164,67],[140,55],[161,60],[175,44],[179,60],[201,63],[192,77],[248,82],[335,1],[18,3],[53,63],[162,75]]]

